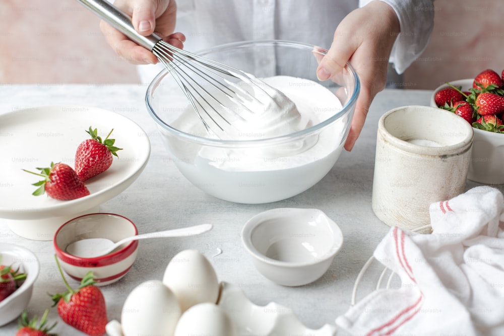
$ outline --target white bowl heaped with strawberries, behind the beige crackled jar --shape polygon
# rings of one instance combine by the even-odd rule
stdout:
[[[430,106],[466,119],[474,131],[467,177],[474,182],[504,184],[504,70],[486,69],[474,78],[449,81],[434,90]]]

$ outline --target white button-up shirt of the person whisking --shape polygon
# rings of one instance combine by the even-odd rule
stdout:
[[[186,36],[184,49],[198,52],[248,40],[289,40],[328,49],[340,21],[373,0],[178,0],[175,31]],[[433,0],[380,0],[401,25],[390,62],[402,73],[425,49],[432,32]],[[259,60],[269,64],[268,53]],[[163,69],[139,66],[144,83]]]

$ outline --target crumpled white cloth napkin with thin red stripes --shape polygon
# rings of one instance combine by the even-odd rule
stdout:
[[[400,288],[375,290],[336,324],[358,335],[504,335],[504,197],[475,187],[430,205],[431,234],[397,227],[374,251]]]

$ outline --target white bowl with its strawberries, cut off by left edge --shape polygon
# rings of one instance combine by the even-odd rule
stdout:
[[[40,272],[37,257],[18,245],[0,242],[0,326],[18,317],[30,302]]]

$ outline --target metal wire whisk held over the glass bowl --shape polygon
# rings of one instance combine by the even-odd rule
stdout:
[[[205,128],[221,139],[230,138],[233,121],[245,120],[246,114],[253,114],[257,107],[276,104],[279,108],[278,97],[294,106],[282,93],[244,71],[174,47],[156,34],[140,35],[131,18],[106,0],[77,2],[151,50],[172,74]]]

